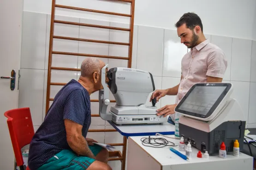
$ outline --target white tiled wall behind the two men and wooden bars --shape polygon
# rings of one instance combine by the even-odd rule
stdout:
[[[21,79],[19,89],[19,107],[30,107],[35,130],[42,124],[45,115],[46,85],[48,69],[48,50],[50,33],[50,15],[24,11],[23,37],[21,56]],[[72,17],[56,16],[56,19],[100,24],[127,28],[127,24],[95,21]],[[83,39],[109,40],[129,42],[128,33],[124,31],[86,28],[71,25],[55,25],[55,35],[79,37]],[[206,34],[206,38],[218,45],[225,52],[228,67],[224,82],[234,85],[235,97],[248,120],[249,128],[256,128],[256,41],[241,40]],[[54,50],[89,54],[112,55],[127,57],[128,48],[123,45],[106,45],[89,42],[54,40]],[[179,84],[181,75],[181,58],[187,52],[185,45],[180,44],[177,32],[163,28],[134,26],[132,68],[149,71],[153,74],[156,89],[166,89]],[[85,57],[53,56],[56,67],[80,68]],[[126,67],[126,60],[102,59],[109,67]],[[78,79],[80,73],[68,71],[52,71],[52,82],[68,82]],[[51,87],[54,97],[62,86]],[[151,94],[150,94],[151,95]],[[150,97],[149,95],[149,97]],[[98,93],[91,95],[98,98]],[[149,98],[148,98],[149,100]],[[175,96],[166,96],[157,104],[163,107],[173,104]],[[111,103],[114,104],[114,103]],[[147,101],[148,105],[151,105]],[[98,103],[91,103],[93,114],[98,113]],[[101,118],[93,117],[90,129],[111,129],[112,126]],[[122,136],[118,132],[89,133],[89,137],[98,142],[121,143]],[[122,151],[122,147],[117,147]],[[109,163],[114,170],[120,169],[120,161]]]

